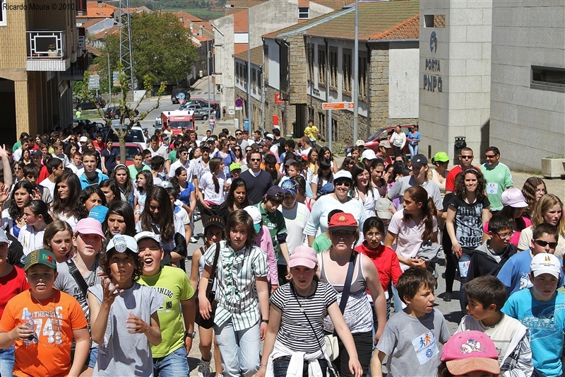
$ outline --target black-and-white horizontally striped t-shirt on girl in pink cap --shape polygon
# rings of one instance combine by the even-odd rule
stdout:
[[[280,286],[270,297],[270,302],[283,312],[277,341],[294,352],[315,352],[320,349],[320,344],[325,344],[322,321],[328,315],[328,307],[335,303],[336,295],[333,286],[323,282],[318,282],[316,291],[308,297],[295,296],[290,283]],[[301,306],[304,313],[300,310]],[[316,332],[315,337],[312,327]]]

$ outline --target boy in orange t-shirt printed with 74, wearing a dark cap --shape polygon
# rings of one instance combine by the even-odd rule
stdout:
[[[11,298],[0,320],[0,348],[16,342],[14,376],[78,376],[90,349],[86,318],[76,298],[53,288],[57,262],[40,249],[25,257],[30,289]],[[32,314],[31,330],[24,323]],[[76,341],[71,366],[71,342]],[[30,344],[26,344],[26,342]]]

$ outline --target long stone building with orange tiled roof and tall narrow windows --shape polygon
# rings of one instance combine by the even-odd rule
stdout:
[[[417,0],[359,4],[359,137],[418,121],[419,13]],[[345,7],[263,35],[266,120],[278,115],[300,137],[312,119],[329,136],[322,103],[353,101],[354,30],[355,8]],[[352,110],[334,110],[333,140],[352,141],[352,124]]]

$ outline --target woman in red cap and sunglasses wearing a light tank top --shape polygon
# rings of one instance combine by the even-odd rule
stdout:
[[[331,246],[319,254],[318,274],[321,282],[333,285],[338,291],[340,310],[353,335],[363,374],[367,374],[373,344],[381,337],[386,323],[386,298],[379,279],[379,272],[367,255],[353,250],[353,246],[359,240],[359,228],[352,214],[338,213],[331,216],[328,231]],[[371,292],[379,323],[374,337],[373,313],[367,289]],[[334,330],[334,325],[328,317],[324,320],[324,330],[327,332]],[[349,358],[347,350],[342,351],[340,347],[338,359],[333,362],[340,369],[341,376],[352,376],[347,368]]]

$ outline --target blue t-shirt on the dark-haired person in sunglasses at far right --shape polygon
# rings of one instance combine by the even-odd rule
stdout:
[[[560,261],[561,265],[563,265],[563,260]],[[512,255],[500,269],[499,274],[496,277],[498,277],[499,280],[508,287],[509,296],[516,291],[531,288],[533,286],[532,282],[530,282],[531,262],[532,255],[530,254],[530,249],[528,249]],[[563,284],[564,279],[563,274],[561,274],[557,288],[563,286]]]

